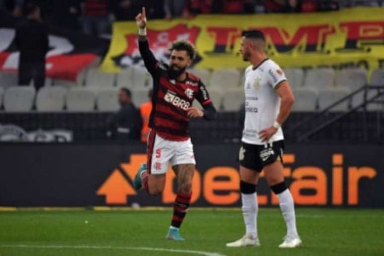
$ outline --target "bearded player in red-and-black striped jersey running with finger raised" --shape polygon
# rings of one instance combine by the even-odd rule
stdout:
[[[170,48],[169,66],[158,62],[149,49],[146,37],[145,8],[136,16],[138,45],[145,68],[153,78],[152,112],[150,115],[147,164],[142,165],[133,180],[138,190],[159,195],[164,189],[165,173],[171,163],[178,181],[178,193],[167,237],[184,240],[180,226],[186,216],[192,195],[195,170],[193,146],[189,136],[190,118],[212,120],[216,109],[201,80],[186,72],[195,56],[194,46],[188,41],[175,41]],[[197,99],[204,110],[192,107]]]

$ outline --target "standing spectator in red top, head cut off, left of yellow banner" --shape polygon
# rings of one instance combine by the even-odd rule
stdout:
[[[89,35],[102,35],[111,32],[109,0],[82,0],[83,32]]]

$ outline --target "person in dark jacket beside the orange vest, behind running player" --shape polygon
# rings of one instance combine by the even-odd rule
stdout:
[[[130,90],[121,88],[118,100],[121,108],[108,119],[107,135],[123,142],[140,140],[142,121],[139,111],[132,103]]]

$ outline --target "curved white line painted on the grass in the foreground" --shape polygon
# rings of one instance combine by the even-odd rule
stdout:
[[[41,248],[41,249],[94,249],[94,250],[139,250],[139,251],[157,251],[157,252],[172,252],[184,253],[203,256],[225,256],[218,253],[210,253],[204,251],[192,250],[178,250],[178,249],[164,249],[164,248],[151,248],[151,247],[120,247],[120,246],[64,246],[64,245],[0,245],[2,248]]]

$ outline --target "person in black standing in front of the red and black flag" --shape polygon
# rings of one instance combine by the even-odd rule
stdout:
[[[36,90],[45,84],[45,56],[49,50],[47,28],[41,21],[40,8],[34,2],[23,5],[26,20],[16,28],[15,43],[20,51],[19,85],[33,79]]]

